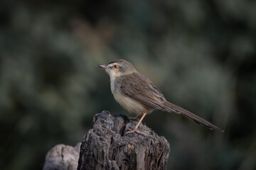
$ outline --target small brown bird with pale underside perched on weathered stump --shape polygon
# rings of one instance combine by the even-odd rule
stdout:
[[[125,135],[134,132],[144,135],[138,130],[139,125],[146,113],[151,113],[154,110],[178,113],[205,128],[224,132],[213,123],[166,101],[161,91],[147,77],[139,73],[130,62],[117,59],[108,64],[99,64],[97,67],[105,69],[110,75],[110,89],[117,103],[130,113],[137,114],[135,118],[129,119],[139,120],[139,122],[133,129],[128,129]]]

